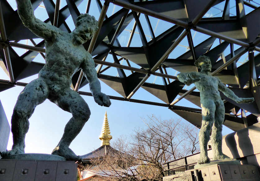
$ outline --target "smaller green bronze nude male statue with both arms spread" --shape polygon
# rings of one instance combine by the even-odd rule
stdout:
[[[213,160],[231,159],[222,153],[222,124],[225,117],[225,107],[219,91],[237,103],[249,104],[254,101],[254,98],[237,97],[219,78],[213,77],[210,74],[211,61],[207,56],[200,56],[195,61],[195,65],[201,70],[200,72],[179,73],[177,77],[187,86],[194,83],[200,91],[202,125],[199,132],[200,158],[198,164],[209,162],[207,144],[211,129]]]

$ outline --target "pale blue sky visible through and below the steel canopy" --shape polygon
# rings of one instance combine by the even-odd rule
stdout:
[[[7,0],[10,5],[13,7],[13,9],[16,9],[16,2],[15,0]],[[54,1],[56,2],[56,1]],[[79,5],[79,11],[81,13],[84,13],[86,11],[87,7],[87,0],[83,0],[83,2]],[[103,3],[104,1],[102,1]],[[254,2],[259,2],[255,0]],[[41,4],[42,6],[43,3]],[[65,0],[61,0],[61,8],[66,5]],[[218,17],[222,16],[221,9],[224,8],[225,2],[222,2],[218,5],[216,5],[214,8],[211,8],[208,13],[205,14],[204,17]],[[231,9],[230,13],[235,14],[235,1],[231,0]],[[107,16],[111,16],[113,13],[117,12],[121,7],[114,6],[113,4],[110,4],[107,12]],[[250,12],[253,9],[247,7],[246,12]],[[95,16],[96,19],[99,17],[99,11],[96,5],[96,1],[91,2],[90,11],[89,14]],[[35,16],[41,20],[47,19],[47,12],[44,7],[38,7],[35,11]],[[144,33],[147,38],[147,41],[150,41],[150,32],[145,20],[144,15],[140,16],[141,24],[144,27]],[[155,36],[158,36],[168,28],[172,27],[173,24],[157,20],[153,17],[150,17],[150,21],[155,33]],[[74,24],[72,21],[71,16],[66,20],[68,26],[71,30],[74,29]],[[126,30],[123,31],[121,35],[119,35],[118,39],[122,46],[126,46],[128,43],[128,39],[130,37],[130,31],[133,27],[134,21],[132,21],[128,27],[126,27]],[[136,29],[136,32],[134,34],[131,46],[141,47],[141,41],[140,36],[138,34],[138,30]],[[205,39],[209,38],[208,35],[201,34],[199,32],[195,32],[191,30],[194,45],[201,43]],[[34,39],[36,43],[40,42],[41,39]],[[30,41],[27,40],[21,40],[19,43],[23,44],[29,44],[32,45]],[[212,48],[217,46],[219,44],[219,40],[216,39],[214,42]],[[170,54],[169,58],[176,58],[180,56],[181,54],[185,53],[187,51],[188,42],[187,39],[183,39],[180,43],[180,46],[177,46],[177,48]],[[235,49],[239,48],[239,46],[235,45]],[[14,48],[16,52],[19,55],[22,55],[25,53],[26,50]],[[227,47],[226,51],[224,52],[225,55],[229,54],[229,47]],[[247,54],[243,55],[239,62],[244,62],[247,60]],[[34,59],[36,62],[44,62],[44,59],[38,54],[38,56]],[[111,55],[108,56],[107,60],[108,62],[113,62],[113,58]],[[130,62],[131,63],[131,62]],[[126,62],[122,63],[123,65],[127,65]],[[239,65],[239,63],[238,63]],[[138,65],[131,63],[132,67],[140,68]],[[105,68],[105,66],[103,66]],[[176,71],[173,69],[167,69],[168,73],[171,75],[176,75]],[[106,71],[105,73],[107,75],[117,76],[116,75],[116,69],[111,67],[109,71]],[[126,75],[130,75],[130,71],[125,71]],[[34,75],[25,79],[20,80],[20,82],[30,82],[33,79],[36,79],[38,75]],[[9,80],[8,76],[0,70],[0,79]],[[120,96],[116,91],[111,89],[109,86],[101,82],[101,91],[104,92],[107,95],[114,95],[114,96]],[[147,80],[147,82],[155,83],[155,84],[163,84],[161,77],[155,77],[153,75],[150,76],[150,78]],[[186,89],[189,89],[193,87],[193,85],[186,87]],[[19,93],[23,90],[24,87],[16,86],[14,88],[8,89],[6,91],[0,92],[0,100],[2,102],[2,105],[4,107],[4,110],[7,115],[7,119],[9,121],[9,124],[11,125],[11,115],[12,110],[14,108],[14,105],[16,103],[17,97]],[[88,85],[80,89],[79,91],[89,91]],[[109,108],[101,107],[97,105],[93,97],[90,96],[82,96],[84,100],[86,100],[87,104],[90,107],[91,110],[91,117],[88,120],[88,122],[85,124],[82,131],[79,133],[79,135],[75,138],[75,140],[71,143],[70,148],[77,154],[77,155],[84,155],[90,151],[93,151],[94,149],[98,148],[101,144],[100,140],[98,139],[100,133],[101,133],[101,127],[104,119],[105,111],[107,111],[108,120],[110,124],[110,131],[111,135],[113,136],[113,140],[120,137],[120,135],[129,136],[132,134],[132,131],[138,127],[146,127],[146,125],[142,122],[141,118],[146,117],[147,115],[154,114],[157,117],[160,117],[161,119],[180,119],[180,117],[173,113],[171,110],[169,110],[167,107],[160,107],[160,106],[153,106],[153,105],[147,105],[147,104],[138,104],[138,103],[131,103],[126,101],[118,101],[118,100],[111,100],[111,106]],[[140,99],[140,100],[148,100],[148,101],[154,101],[163,103],[161,100],[156,98],[155,96],[151,95],[144,89],[140,88],[132,97],[133,99]],[[187,107],[195,107],[198,108],[196,105],[190,103],[189,101],[182,99],[179,101],[176,105],[181,106],[187,106]],[[27,153],[48,153],[50,154],[52,152],[52,149],[56,146],[56,144],[59,142],[62,134],[63,129],[65,127],[65,124],[68,122],[68,120],[71,118],[71,114],[68,112],[63,111],[60,109],[56,104],[51,103],[49,100],[46,100],[43,104],[40,104],[36,107],[34,114],[29,119],[30,122],[30,128],[29,132],[26,134],[25,138],[25,152]],[[223,135],[228,134],[232,132],[230,129],[224,127],[223,128]],[[10,135],[8,147],[7,149],[10,150],[12,146],[12,135]]]

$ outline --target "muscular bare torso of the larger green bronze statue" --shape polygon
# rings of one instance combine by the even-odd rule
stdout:
[[[59,33],[54,40],[46,40],[46,64],[39,72],[47,84],[69,87],[71,78],[80,69],[89,53],[83,45],[75,46],[69,33]]]

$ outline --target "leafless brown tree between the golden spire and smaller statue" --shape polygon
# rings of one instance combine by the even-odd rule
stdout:
[[[147,128],[134,130],[131,140],[113,142],[118,151],[92,160],[86,167],[100,179],[119,181],[162,180],[162,164],[198,151],[198,130],[182,120],[142,119]],[[93,177],[94,179],[94,177]]]

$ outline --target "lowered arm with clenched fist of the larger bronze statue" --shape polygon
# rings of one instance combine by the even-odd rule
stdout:
[[[88,56],[83,61],[81,68],[89,82],[89,89],[95,102],[101,106],[109,107],[111,104],[110,99],[107,95],[101,92],[100,82],[97,78],[95,63],[91,54],[88,53]]]

